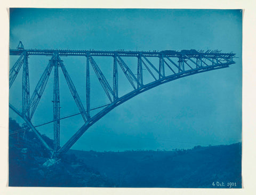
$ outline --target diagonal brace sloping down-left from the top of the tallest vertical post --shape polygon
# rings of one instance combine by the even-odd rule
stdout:
[[[44,70],[43,75],[41,76],[41,78],[39,79],[35,91],[33,93],[33,95],[31,96],[30,102],[29,102],[29,106],[27,109],[30,109],[30,117],[29,119],[31,119],[35,113],[35,110],[37,108],[37,105],[43,95],[47,80],[49,79],[49,76],[51,74],[52,71],[52,67],[53,67],[53,56],[51,58],[51,60],[49,61],[46,69]]]

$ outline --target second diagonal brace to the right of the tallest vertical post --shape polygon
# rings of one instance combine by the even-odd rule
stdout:
[[[103,90],[105,91],[105,93],[108,96],[108,99],[110,100],[110,102],[113,102],[113,100],[111,99],[110,94],[113,95],[114,99],[116,99],[114,91],[111,89],[110,85],[107,82],[107,79],[105,78],[105,76],[101,72],[101,70],[98,67],[97,63],[93,60],[92,56],[89,56],[89,60],[90,60],[90,62],[92,64],[92,68],[93,68],[95,74],[97,75]]]

